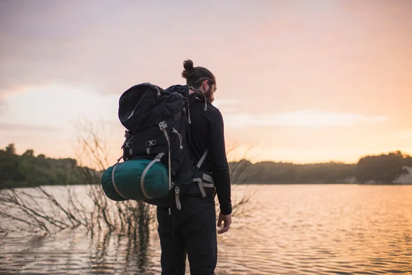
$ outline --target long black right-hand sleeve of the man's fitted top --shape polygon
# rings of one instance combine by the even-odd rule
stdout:
[[[227,163],[226,156],[223,118],[218,109],[216,109],[216,113],[214,112],[214,115],[211,116],[209,129],[209,159],[220,204],[220,212],[222,212],[222,214],[231,214],[229,164]]]

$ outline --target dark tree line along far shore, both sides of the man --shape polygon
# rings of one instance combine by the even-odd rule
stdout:
[[[356,164],[252,164],[246,159],[229,163],[233,184],[392,184],[408,173],[405,166],[412,167],[412,157],[400,151],[368,155]],[[88,184],[78,177],[79,169],[75,159],[35,156],[32,149],[17,155],[14,144],[0,149],[0,188],[25,187],[27,181],[38,185]]]

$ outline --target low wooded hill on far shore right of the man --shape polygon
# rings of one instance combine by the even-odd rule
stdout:
[[[409,174],[407,167],[412,167],[412,158],[397,151],[387,155],[367,155],[357,164],[252,164],[243,159],[229,165],[233,181],[240,184],[394,184],[398,178]]]

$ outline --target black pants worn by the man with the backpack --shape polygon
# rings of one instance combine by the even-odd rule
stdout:
[[[217,263],[214,197],[182,197],[176,206],[157,208],[162,275],[185,274],[186,255],[190,274],[214,274]]]

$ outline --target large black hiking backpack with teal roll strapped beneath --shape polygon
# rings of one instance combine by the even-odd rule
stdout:
[[[141,83],[120,96],[118,116],[126,128],[123,155],[104,171],[101,180],[109,199],[134,199],[156,206],[175,201],[181,210],[180,196],[188,184],[197,181],[202,195],[203,187],[213,184],[207,175],[203,178],[209,183],[198,177],[207,151],[196,166],[190,157],[188,89],[176,92],[170,88]]]

